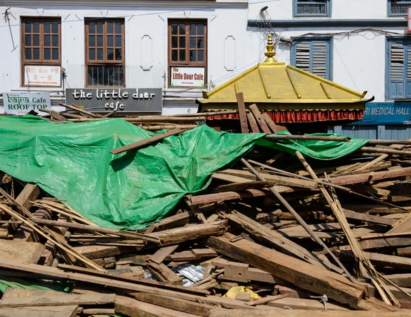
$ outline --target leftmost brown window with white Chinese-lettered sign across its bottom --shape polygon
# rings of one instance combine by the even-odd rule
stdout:
[[[60,81],[48,80],[51,73],[43,79],[42,66],[53,75],[60,77],[61,66],[61,23],[60,18],[22,18],[21,19],[21,60],[22,85],[60,86]],[[28,74],[28,73],[29,74]],[[28,75],[33,75],[28,77]],[[36,75],[34,75],[36,74]],[[42,79],[37,77],[41,77]],[[55,77],[53,76],[53,80]]]

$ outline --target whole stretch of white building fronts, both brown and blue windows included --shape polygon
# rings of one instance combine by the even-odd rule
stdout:
[[[49,92],[53,105],[65,100],[68,88],[161,88],[162,114],[195,112],[202,90],[264,58],[269,33],[279,62],[367,90],[378,102],[411,99],[406,18],[411,1],[3,0],[0,5],[0,92]]]

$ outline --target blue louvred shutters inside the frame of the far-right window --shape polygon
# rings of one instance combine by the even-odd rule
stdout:
[[[406,51],[407,47],[403,43],[390,42],[388,60],[388,98],[390,99],[405,98]]]

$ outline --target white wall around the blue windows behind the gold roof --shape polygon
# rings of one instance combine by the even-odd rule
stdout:
[[[255,1],[258,2],[258,1]],[[263,13],[261,8],[267,5]],[[387,0],[332,0],[331,17],[293,17],[292,0],[279,0],[270,3],[260,3],[249,7],[249,21],[266,21],[260,27],[248,27],[250,32],[251,47],[249,62],[262,59],[264,52],[264,36],[275,32],[277,36],[291,40],[303,34],[318,34],[319,36],[334,36],[332,49],[332,80],[337,84],[347,86],[353,90],[363,92],[367,90],[367,97],[374,96],[375,101],[386,101],[386,36],[388,34],[375,35],[371,31],[353,34],[351,36],[336,36],[336,33],[361,29],[364,26],[348,27],[345,21],[368,20],[373,29],[382,32],[395,32],[400,35],[407,34],[406,18],[388,17]],[[390,26],[390,21],[403,19],[403,26]],[[275,27],[269,27],[272,21]],[[295,21],[295,26],[289,21]],[[321,26],[315,27],[303,25],[298,27],[301,21],[320,21]],[[287,23],[288,22],[288,23]],[[284,27],[279,27],[284,23]],[[334,24],[332,24],[334,23]],[[249,23],[250,24],[250,23]],[[338,26],[334,26],[334,25]],[[332,26],[331,26],[332,25]],[[276,58],[280,62],[290,64],[290,45],[277,45]]]

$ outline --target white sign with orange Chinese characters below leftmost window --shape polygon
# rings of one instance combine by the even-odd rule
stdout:
[[[24,85],[61,87],[61,68],[60,66],[25,65]]]

